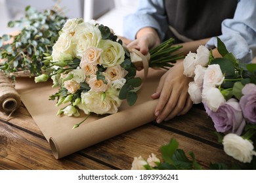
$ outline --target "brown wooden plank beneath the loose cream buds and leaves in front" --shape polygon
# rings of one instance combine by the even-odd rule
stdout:
[[[173,137],[177,139],[180,144],[179,147],[184,152],[194,152],[197,161],[205,169],[209,168],[210,162],[237,163],[219,148],[150,124],[123,133],[108,141],[100,142],[95,146],[82,150],[82,152],[106,163],[111,163],[120,169],[131,169],[134,157],[142,156],[143,158],[148,158],[151,153],[161,157],[160,147],[169,143]]]

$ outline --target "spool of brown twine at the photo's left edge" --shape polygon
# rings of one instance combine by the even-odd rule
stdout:
[[[10,80],[0,72],[0,111],[11,113],[20,107],[20,95]]]

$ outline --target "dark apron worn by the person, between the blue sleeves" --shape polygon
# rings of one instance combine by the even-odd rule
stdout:
[[[221,22],[234,17],[237,3],[238,0],[165,0],[171,27],[165,39],[173,37],[176,43],[184,42],[177,33],[190,40],[221,35]]]

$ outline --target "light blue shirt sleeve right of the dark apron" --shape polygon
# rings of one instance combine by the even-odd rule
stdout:
[[[228,52],[244,63],[251,63],[256,56],[256,3],[255,0],[240,0],[236,7],[234,18],[222,23],[222,35]],[[217,39],[211,38],[205,45],[208,48],[217,47]]]

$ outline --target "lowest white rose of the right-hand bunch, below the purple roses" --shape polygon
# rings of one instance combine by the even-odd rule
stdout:
[[[253,150],[253,143],[234,133],[228,133],[228,135],[224,136],[223,146],[224,152],[228,156],[232,156],[243,163],[250,163],[253,156],[256,156],[256,152]]]

